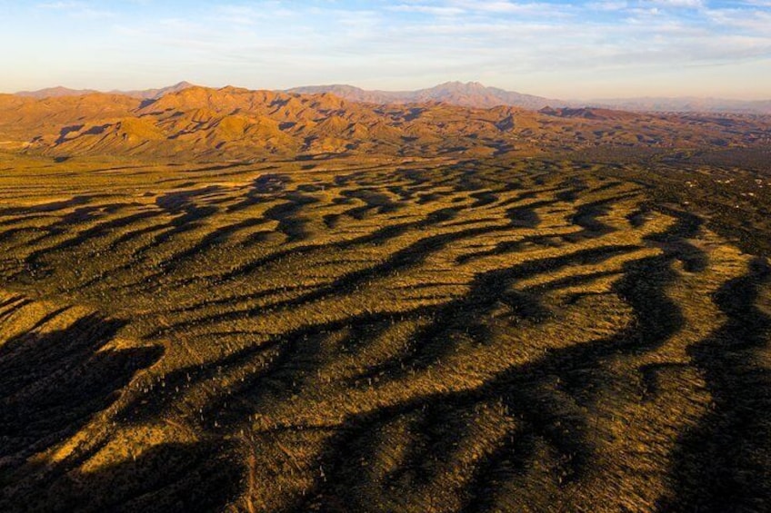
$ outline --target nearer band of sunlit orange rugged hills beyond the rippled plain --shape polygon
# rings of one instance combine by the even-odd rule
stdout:
[[[0,149],[57,157],[317,158],[333,154],[467,158],[591,147],[767,145],[771,119],[602,108],[368,104],[335,94],[192,86],[155,99],[0,94]]]

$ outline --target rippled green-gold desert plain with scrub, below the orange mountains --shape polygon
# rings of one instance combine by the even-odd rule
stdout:
[[[771,508],[765,157],[571,141],[5,153],[0,509]]]

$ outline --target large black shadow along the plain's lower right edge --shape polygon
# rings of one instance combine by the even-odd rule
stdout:
[[[726,323],[688,352],[704,373],[714,406],[680,439],[664,511],[762,511],[771,497],[771,373],[762,361],[771,317],[756,306],[771,266],[754,259],[714,301]]]

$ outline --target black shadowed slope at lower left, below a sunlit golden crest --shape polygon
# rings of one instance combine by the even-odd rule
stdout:
[[[92,314],[0,346],[0,469],[6,476],[24,473],[27,457],[75,434],[117,399],[135,372],[160,359],[159,347],[105,349],[123,326]]]

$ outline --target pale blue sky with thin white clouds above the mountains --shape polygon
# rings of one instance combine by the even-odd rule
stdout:
[[[182,80],[771,99],[771,0],[0,0],[0,92]]]

